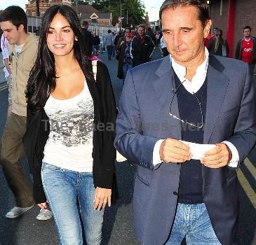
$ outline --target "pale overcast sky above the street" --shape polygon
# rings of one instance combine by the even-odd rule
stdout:
[[[159,8],[161,7],[163,0],[153,1],[153,0],[142,0],[145,3],[147,12],[149,13],[149,21],[158,20],[159,18]],[[0,0],[0,9],[5,9],[11,5],[18,5],[25,9],[25,4],[27,0]]]

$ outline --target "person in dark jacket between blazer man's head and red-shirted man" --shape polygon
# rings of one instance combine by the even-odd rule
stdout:
[[[226,39],[222,38],[222,30],[217,29],[216,38],[210,41],[208,50],[212,55],[227,57],[229,55],[229,45]]]

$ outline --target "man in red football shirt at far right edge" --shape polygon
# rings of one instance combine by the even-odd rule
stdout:
[[[249,26],[243,27],[243,39],[236,45],[235,58],[248,63],[253,75],[256,63],[256,38],[251,36],[251,31]]]

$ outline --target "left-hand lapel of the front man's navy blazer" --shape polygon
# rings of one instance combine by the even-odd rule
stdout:
[[[156,80],[153,82],[153,87],[156,92],[156,97],[159,100],[159,108],[165,113],[161,114],[162,120],[168,124],[168,135],[164,137],[172,137],[181,139],[181,126],[180,121],[169,115],[170,100],[173,97],[173,75],[172,66],[170,64],[170,57],[163,58],[159,69],[156,70]],[[179,107],[177,104],[177,96],[175,95],[172,103],[172,113],[180,118]]]

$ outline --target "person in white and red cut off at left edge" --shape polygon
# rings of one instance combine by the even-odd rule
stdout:
[[[8,117],[11,114],[11,68],[9,66],[8,40],[6,39],[4,34],[2,34],[1,36],[1,51],[4,63],[4,78],[6,78],[6,82],[8,84]]]

